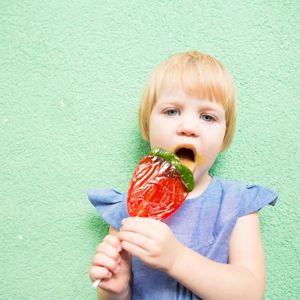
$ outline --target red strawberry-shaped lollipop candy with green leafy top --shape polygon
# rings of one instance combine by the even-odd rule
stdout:
[[[153,148],[133,173],[127,193],[128,214],[161,221],[179,208],[193,186],[193,174],[178,156]]]

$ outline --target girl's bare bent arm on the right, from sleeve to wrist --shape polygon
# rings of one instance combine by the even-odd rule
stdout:
[[[212,261],[183,246],[170,276],[203,300],[261,300],[265,260],[258,212],[237,218],[229,238],[228,264]]]

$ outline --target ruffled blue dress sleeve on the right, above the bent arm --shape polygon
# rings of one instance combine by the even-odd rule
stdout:
[[[278,192],[267,186],[246,185],[239,205],[239,216],[261,209],[266,204],[275,205]]]

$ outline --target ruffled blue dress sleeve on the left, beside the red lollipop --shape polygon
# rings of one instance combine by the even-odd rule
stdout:
[[[112,227],[119,230],[121,220],[128,217],[126,195],[114,189],[88,189],[87,197],[95,206],[102,218]]]

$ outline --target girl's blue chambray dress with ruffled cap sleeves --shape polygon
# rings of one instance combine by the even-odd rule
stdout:
[[[236,219],[266,204],[274,206],[278,192],[266,186],[211,177],[201,195],[185,199],[163,222],[183,245],[211,260],[227,263],[229,236]],[[119,230],[121,220],[129,216],[127,192],[88,189],[87,195],[102,218]],[[132,273],[132,300],[201,299],[174,278],[146,266],[134,256]]]

